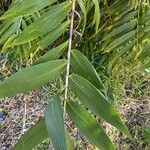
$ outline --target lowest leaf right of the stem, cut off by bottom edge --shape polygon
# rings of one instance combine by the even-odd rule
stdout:
[[[75,125],[95,146],[101,150],[115,150],[103,128],[88,111],[73,101],[67,103],[66,109]]]

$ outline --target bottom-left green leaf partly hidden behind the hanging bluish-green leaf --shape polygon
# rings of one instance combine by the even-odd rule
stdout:
[[[32,150],[46,139],[48,139],[48,133],[43,119],[21,137],[13,150]]]

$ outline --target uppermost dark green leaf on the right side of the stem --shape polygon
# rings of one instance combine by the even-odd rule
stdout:
[[[98,73],[89,60],[78,50],[73,50],[71,53],[71,66],[76,74],[86,78],[97,88],[103,88],[102,81]]]

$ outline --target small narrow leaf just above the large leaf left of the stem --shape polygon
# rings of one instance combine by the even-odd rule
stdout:
[[[65,50],[65,48],[68,45],[68,41],[51,49],[50,51],[48,51],[45,55],[41,56],[35,63],[36,64],[40,64],[40,63],[44,63],[50,60],[54,60],[54,59],[58,59],[61,54],[63,53],[63,51]]]

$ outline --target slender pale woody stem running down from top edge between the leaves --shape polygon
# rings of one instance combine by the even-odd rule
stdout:
[[[66,77],[65,77],[65,100],[68,98],[68,78],[70,73],[70,56],[71,56],[71,49],[72,49],[72,37],[73,37],[73,24],[74,24],[74,14],[75,14],[75,2],[76,0],[72,0],[72,11],[71,11],[71,22],[70,22],[70,29],[69,29],[69,45],[68,45],[68,56],[67,56],[67,70],[66,70]]]

